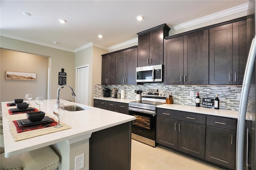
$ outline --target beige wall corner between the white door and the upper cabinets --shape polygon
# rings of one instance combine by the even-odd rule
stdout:
[[[98,47],[88,47],[75,54],[75,67],[88,65],[88,105],[92,106],[93,85],[101,84],[101,55],[108,53],[107,50]],[[76,87],[75,87],[76,88]]]

